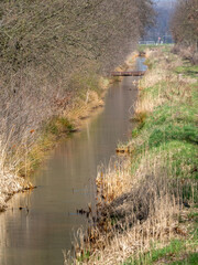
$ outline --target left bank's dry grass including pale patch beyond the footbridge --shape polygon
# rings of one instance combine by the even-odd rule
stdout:
[[[119,68],[125,70],[134,64],[135,56],[132,54]],[[90,78],[78,76],[73,83],[74,87],[80,87],[77,94],[54,98],[52,108],[55,115],[51,113],[36,129],[30,127],[22,142],[4,145],[0,156],[0,211],[7,209],[7,201],[14,193],[34,189],[32,173],[61,139],[82,129],[85,120],[102,109],[106,92],[114,82],[118,81],[98,75]]]

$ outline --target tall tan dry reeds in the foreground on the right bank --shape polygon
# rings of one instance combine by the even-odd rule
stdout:
[[[74,264],[122,264],[132,255],[148,251],[154,242],[164,246],[179,236],[176,231],[183,209],[180,182],[170,183],[166,170],[163,172],[157,163],[155,172],[148,174],[153,159],[146,159],[144,172],[138,170],[136,176],[130,176],[129,167],[125,170],[118,163],[117,171],[108,170],[105,174],[100,171],[99,223],[86,236],[79,233]],[[184,230],[178,231],[186,235]],[[66,261],[65,264],[73,263],[68,257]]]

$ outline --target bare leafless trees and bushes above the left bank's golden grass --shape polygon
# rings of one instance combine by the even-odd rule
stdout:
[[[119,65],[152,20],[152,0],[1,0],[1,149],[31,146],[73,76]]]

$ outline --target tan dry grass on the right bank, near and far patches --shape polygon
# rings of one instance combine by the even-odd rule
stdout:
[[[161,59],[160,64],[156,57]],[[172,109],[178,104],[190,104],[193,97],[189,84],[194,82],[169,74],[169,70],[180,64],[179,59],[166,57],[157,50],[150,60],[154,66],[141,82],[135,106],[140,121],[146,120],[157,106],[168,103]],[[144,93],[155,86],[157,93],[155,89]],[[172,239],[189,237],[187,226],[179,223],[185,203],[194,205],[197,197],[197,181],[190,179],[195,167],[185,160],[190,161],[191,157],[187,149],[187,157],[179,152],[188,146],[164,141],[160,147],[150,149],[145,145],[136,151],[136,147],[146,142],[146,137],[140,135],[131,140],[125,147],[131,148],[130,156],[112,158],[108,168],[99,168],[97,215],[92,216],[94,223],[87,233],[78,232],[76,256],[64,252],[65,264],[123,264],[128,258],[134,261],[150,253],[153,245],[163,247]],[[146,265],[146,259],[140,259],[140,264]]]

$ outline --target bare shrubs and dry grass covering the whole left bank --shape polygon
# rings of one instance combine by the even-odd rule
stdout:
[[[152,20],[150,0],[0,1],[3,187],[6,176],[30,174],[51,141],[70,130],[70,117],[101,104],[101,75],[123,63]]]

